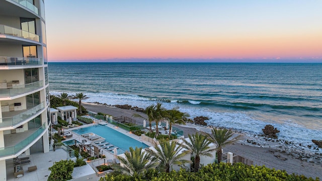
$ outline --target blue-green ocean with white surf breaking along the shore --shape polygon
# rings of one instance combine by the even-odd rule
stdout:
[[[303,146],[322,140],[320,63],[49,63],[50,93],[145,108],[161,102],[208,124]]]

